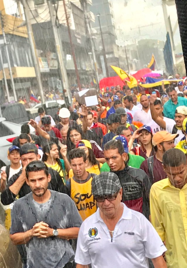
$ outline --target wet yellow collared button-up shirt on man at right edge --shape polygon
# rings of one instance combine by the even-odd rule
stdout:
[[[168,268],[187,267],[187,184],[182,189],[168,178],[154,183],[150,190],[151,223],[166,242]]]

